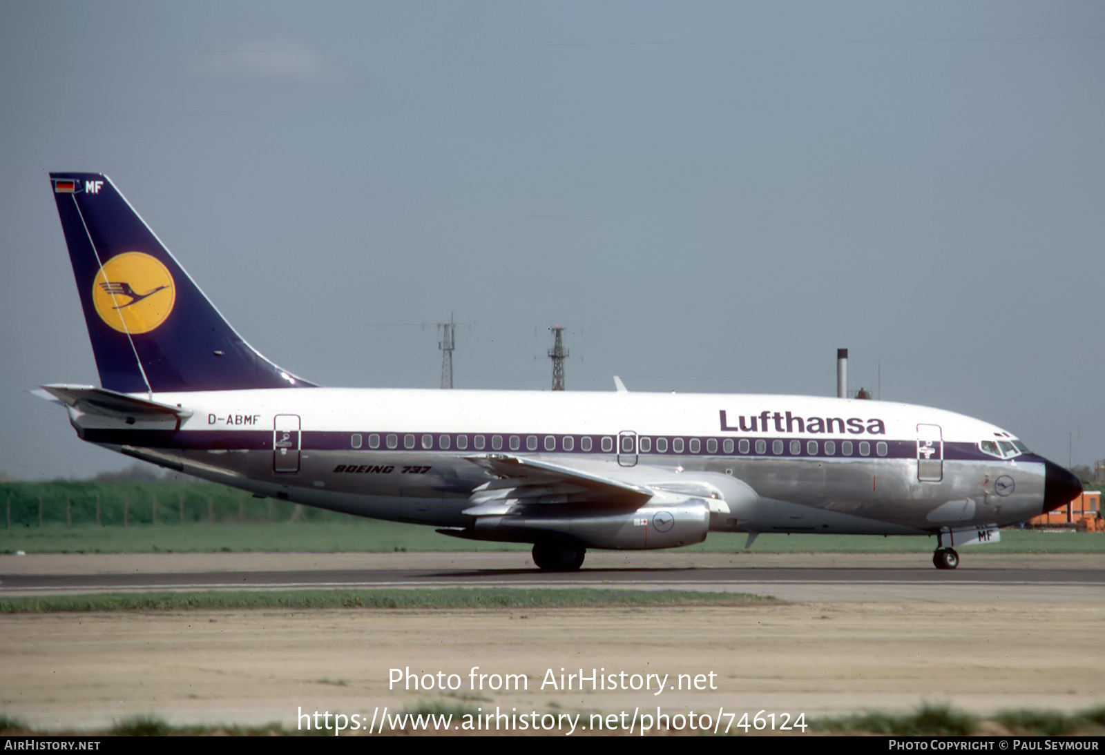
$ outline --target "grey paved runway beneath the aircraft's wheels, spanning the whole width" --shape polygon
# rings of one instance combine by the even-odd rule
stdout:
[[[938,571],[915,566],[924,563],[923,556],[897,554],[771,554],[774,557],[761,557],[757,564],[740,566],[704,556],[669,560],[653,556],[638,564],[623,559],[619,563],[612,561],[619,556],[611,554],[606,562],[596,559],[592,568],[545,573],[529,566],[524,555],[517,553],[212,554],[204,565],[200,565],[203,554],[170,555],[178,557],[114,556],[114,561],[103,561],[98,567],[88,565],[95,563],[88,561],[94,556],[57,555],[49,564],[39,561],[43,566],[49,565],[42,570],[34,570],[35,563],[28,561],[18,562],[19,568],[14,568],[17,562],[4,557],[0,561],[0,595],[165,589],[599,587],[749,592],[792,600],[1105,600],[1105,568],[1098,556],[1065,560],[1006,556],[990,559],[989,563],[976,562],[967,568]],[[352,559],[364,567],[349,568]],[[610,567],[611,563],[618,566]],[[781,565],[787,563],[794,565]]]

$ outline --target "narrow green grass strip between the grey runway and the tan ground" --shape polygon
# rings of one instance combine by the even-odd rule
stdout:
[[[0,599],[0,614],[199,610],[243,608],[587,608],[596,606],[753,606],[769,595],[693,591],[544,589],[276,589],[107,593]]]

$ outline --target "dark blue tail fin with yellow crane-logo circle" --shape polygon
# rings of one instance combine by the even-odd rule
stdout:
[[[110,179],[51,173],[50,181],[105,389],[314,386],[234,332]]]

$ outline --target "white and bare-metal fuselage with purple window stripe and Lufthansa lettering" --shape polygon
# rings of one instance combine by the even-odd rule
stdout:
[[[322,387],[150,397],[192,414],[179,427],[71,414],[91,442],[199,477],[438,527],[472,524],[474,492],[498,477],[477,461],[499,455],[627,485],[705,485],[727,503],[712,508],[713,530],[920,534],[1022,521],[1043,504],[1043,459],[980,450],[1010,434],[888,402]]]

